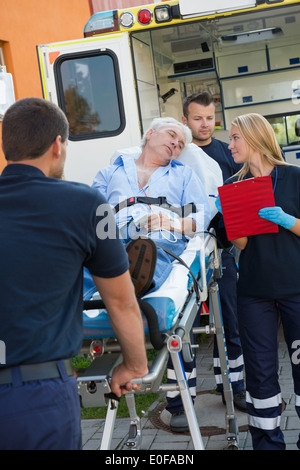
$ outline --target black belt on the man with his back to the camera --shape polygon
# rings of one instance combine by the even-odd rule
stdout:
[[[64,359],[67,375],[73,375],[71,359]],[[57,361],[41,362],[40,364],[22,364],[17,366],[21,373],[22,382],[32,380],[57,379],[61,377]],[[12,367],[0,367],[0,385],[12,383]]]

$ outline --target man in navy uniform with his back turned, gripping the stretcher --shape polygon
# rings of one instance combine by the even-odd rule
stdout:
[[[106,304],[124,361],[112,392],[147,374],[144,331],[128,258],[118,238],[100,240],[99,191],[63,181],[68,122],[54,104],[17,101],[6,112],[0,176],[0,448],[81,448],[71,358],[82,342],[82,271]],[[103,212],[103,211],[101,211]],[[106,216],[114,221],[112,212]]]

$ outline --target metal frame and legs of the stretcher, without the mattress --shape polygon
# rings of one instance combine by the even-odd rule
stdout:
[[[200,278],[199,291],[196,295],[193,284],[182,311],[170,331],[164,332],[164,344],[156,359],[149,365],[149,373],[132,382],[141,386],[138,392],[129,392],[125,395],[129,410],[129,433],[126,441],[128,449],[138,450],[142,443],[141,421],[135,409],[135,393],[165,393],[177,390],[180,392],[184,411],[187,417],[190,435],[195,450],[205,450],[200,427],[197,421],[193,401],[190,395],[182,357],[186,362],[191,361],[192,345],[191,333],[215,334],[219,350],[220,366],[223,379],[224,398],[226,401],[225,426],[227,449],[238,449],[238,425],[234,411],[233,393],[230,380],[230,370],[227,358],[226,339],[224,334],[222,311],[219,297],[217,279],[221,276],[220,253],[217,242],[208,263],[205,260],[205,248],[209,243],[213,231],[204,242],[204,249],[200,250]],[[200,298],[199,298],[200,292]],[[209,299],[209,324],[204,327],[193,328],[194,320],[201,308],[202,302]],[[153,346],[146,340],[146,347]],[[83,407],[107,406],[107,414],[99,449],[110,450],[113,430],[118,410],[118,400],[110,394],[109,376],[113,368],[122,361],[120,347],[116,340],[108,340],[105,344],[108,353],[100,354],[91,366],[84,370],[78,378],[79,395]],[[176,377],[176,384],[163,384],[162,377],[166,370],[168,357],[171,357]],[[225,446],[226,447],[226,446]]]

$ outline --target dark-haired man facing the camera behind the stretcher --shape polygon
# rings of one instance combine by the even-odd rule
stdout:
[[[231,151],[228,149],[229,144],[213,137],[215,130],[215,103],[210,93],[204,91],[186,97],[183,102],[182,121],[191,129],[193,143],[199,146],[219,164],[224,181],[239,171],[241,166],[235,164]],[[222,245],[226,248],[226,250],[222,252],[223,276],[218,280],[218,285],[234,404],[239,410],[246,412],[245,386],[243,380],[244,361],[237,322],[237,267],[234,258],[235,249],[226,237],[224,226],[218,227],[217,236],[222,242]],[[214,373],[217,382],[217,391],[222,392],[223,385],[220,375],[216,341],[214,346]]]

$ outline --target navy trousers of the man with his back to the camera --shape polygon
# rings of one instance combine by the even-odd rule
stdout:
[[[81,450],[77,381],[63,361],[61,377],[22,382],[12,367],[12,383],[0,385],[1,450]]]

